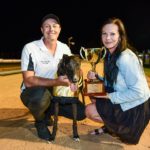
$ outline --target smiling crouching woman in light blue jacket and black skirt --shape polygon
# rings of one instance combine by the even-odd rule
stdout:
[[[107,49],[104,60],[105,97],[92,99],[86,106],[86,116],[104,126],[91,134],[115,134],[124,142],[137,144],[149,122],[150,90],[141,61],[129,48],[122,21],[106,20],[101,40]],[[101,77],[89,71],[88,79]]]

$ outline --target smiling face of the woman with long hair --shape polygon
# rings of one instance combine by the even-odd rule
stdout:
[[[118,26],[115,24],[106,24],[102,28],[102,42],[103,45],[113,53],[120,41]]]

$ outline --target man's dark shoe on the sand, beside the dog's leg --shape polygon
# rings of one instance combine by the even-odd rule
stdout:
[[[44,140],[51,139],[51,133],[50,133],[49,129],[47,128],[44,121],[35,122],[35,127],[37,129],[38,136],[41,139],[44,139]]]

